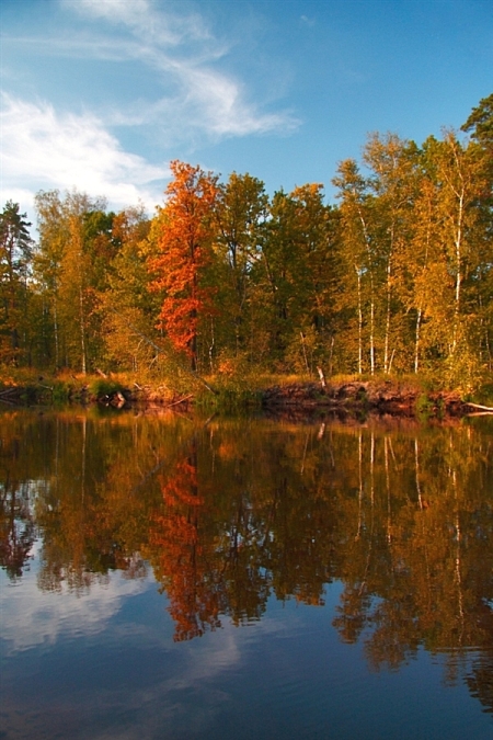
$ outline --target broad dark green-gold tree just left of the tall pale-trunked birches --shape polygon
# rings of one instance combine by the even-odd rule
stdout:
[[[335,218],[318,183],[274,194],[252,282],[272,360],[311,373],[333,332]],[[260,300],[259,300],[260,303]],[[265,331],[264,329],[264,331]]]

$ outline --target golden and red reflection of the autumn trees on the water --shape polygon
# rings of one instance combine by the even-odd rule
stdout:
[[[450,676],[491,710],[488,435],[467,425],[43,423],[30,457],[31,476],[49,482],[34,510],[42,588],[88,588],[115,568],[139,577],[147,560],[181,640],[225,616],[259,619],[271,595],[323,604],[340,579],[334,627],[364,640],[375,670],[422,647],[451,654]]]

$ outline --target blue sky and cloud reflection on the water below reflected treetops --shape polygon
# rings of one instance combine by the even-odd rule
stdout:
[[[37,561],[2,577],[2,711],[7,737],[51,740],[173,738],[491,737],[461,681],[422,652],[399,672],[370,673],[360,645],[332,627],[341,584],[324,607],[271,599],[266,615],[190,642],[152,578],[110,573],[77,595],[37,589]]]

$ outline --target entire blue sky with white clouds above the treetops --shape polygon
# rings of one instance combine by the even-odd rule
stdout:
[[[0,205],[162,203],[169,162],[321,182],[493,91],[491,0],[0,0]]]

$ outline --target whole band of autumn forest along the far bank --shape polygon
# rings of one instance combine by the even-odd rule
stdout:
[[[171,171],[153,217],[41,191],[34,240],[4,205],[3,368],[491,377],[493,94],[421,146],[368,135],[334,204],[321,183],[271,196],[249,173]]]

